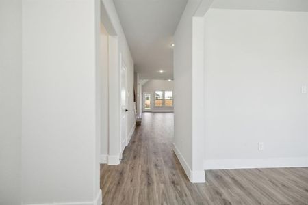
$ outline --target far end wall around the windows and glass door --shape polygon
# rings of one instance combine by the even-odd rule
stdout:
[[[142,97],[144,92],[151,92],[152,93],[152,111],[173,111],[172,107],[155,107],[154,98],[155,98],[155,90],[172,90],[173,92],[173,81],[166,81],[166,80],[149,80],[144,85],[142,85]],[[143,101],[142,101],[143,102]],[[174,105],[174,102],[173,102]],[[142,109],[144,110],[144,103],[142,103]]]

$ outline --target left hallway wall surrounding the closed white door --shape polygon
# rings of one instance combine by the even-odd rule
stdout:
[[[134,111],[133,102],[133,59],[129,51],[129,46],[125,38],[125,34],[120,24],[114,2],[109,0],[103,0],[105,12],[107,13],[110,23],[114,28],[116,36],[112,36],[110,40],[109,50],[111,53],[116,53],[114,57],[116,64],[109,65],[109,124],[110,124],[110,137],[109,137],[109,156],[110,162],[113,164],[120,163],[120,65],[121,61],[125,63],[127,67],[127,96],[128,107],[127,113],[127,138],[133,132],[135,127],[136,117]]]

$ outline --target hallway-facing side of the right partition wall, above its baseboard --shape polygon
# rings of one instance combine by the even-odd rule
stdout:
[[[174,144],[186,167],[192,167],[192,16],[199,3],[188,1],[174,36]],[[188,173],[187,169],[185,171]]]

